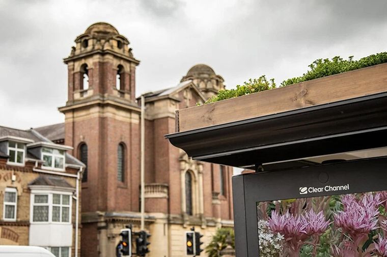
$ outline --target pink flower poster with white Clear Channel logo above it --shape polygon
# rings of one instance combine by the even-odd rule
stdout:
[[[299,197],[345,190],[349,184],[299,187]],[[379,191],[258,202],[259,256],[386,256],[386,195]],[[380,255],[375,248],[382,249]]]

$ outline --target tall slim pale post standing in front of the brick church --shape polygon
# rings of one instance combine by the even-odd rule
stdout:
[[[141,230],[145,226],[145,98],[141,96]]]

